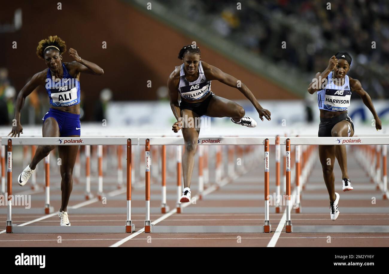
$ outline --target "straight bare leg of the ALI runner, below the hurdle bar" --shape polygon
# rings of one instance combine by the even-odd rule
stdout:
[[[80,137],[72,135],[67,137]],[[78,145],[58,146],[58,152],[61,159],[61,208],[60,211],[67,211],[70,194],[73,189],[73,168],[77,157]]]

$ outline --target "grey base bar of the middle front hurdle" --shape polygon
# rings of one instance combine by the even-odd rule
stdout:
[[[146,232],[146,230],[145,230]],[[151,225],[152,233],[263,233],[264,227],[257,225],[232,226],[232,225]]]

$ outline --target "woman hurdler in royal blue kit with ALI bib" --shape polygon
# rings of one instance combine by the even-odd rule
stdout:
[[[57,36],[41,40],[37,47],[37,56],[46,62],[48,68],[36,73],[19,92],[15,105],[16,126],[12,127],[9,136],[16,137],[23,133],[20,124],[20,110],[26,97],[39,85],[45,87],[49,96],[49,112],[43,117],[43,137],[80,137],[80,73],[85,72],[103,75],[98,65],[82,59],[75,49],[69,54],[75,61],[62,63],[62,54],[66,52],[65,42]],[[27,183],[37,164],[56,146],[39,146],[31,163],[18,177],[19,185]],[[61,163],[61,208],[58,211],[61,226],[70,226],[67,206],[73,187],[73,167],[77,156],[78,145],[58,146]]]

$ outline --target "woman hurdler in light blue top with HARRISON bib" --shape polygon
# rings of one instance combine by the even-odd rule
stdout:
[[[364,91],[358,80],[346,75],[350,70],[350,65],[350,54],[346,51],[337,52],[329,59],[326,70],[316,73],[308,87],[310,94],[317,91],[317,103],[320,109],[319,137],[352,137],[354,135],[354,125],[347,115],[351,92],[356,92],[361,96],[363,103],[373,114],[376,129],[381,129],[381,120],[378,118],[369,94]],[[335,157],[342,170],[343,191],[353,189],[347,173],[346,146],[319,145],[319,157],[329,194],[330,216],[331,220],[335,221],[339,215],[338,202],[340,197],[335,192],[333,173]]]

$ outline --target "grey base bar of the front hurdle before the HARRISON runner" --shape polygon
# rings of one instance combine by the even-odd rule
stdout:
[[[294,233],[389,233],[389,225],[297,225]]]

